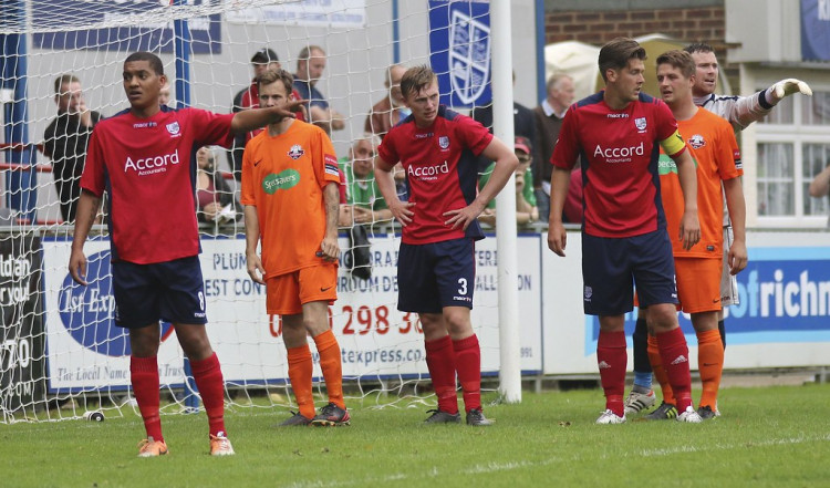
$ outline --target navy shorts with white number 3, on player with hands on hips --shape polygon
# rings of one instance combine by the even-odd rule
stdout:
[[[444,307],[473,308],[475,241],[468,238],[428,245],[401,243],[397,257],[397,310],[442,313]]]

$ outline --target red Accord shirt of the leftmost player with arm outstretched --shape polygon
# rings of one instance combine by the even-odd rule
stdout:
[[[113,260],[148,264],[199,253],[196,149],[229,146],[232,118],[163,106],[149,118],[124,111],[95,126],[81,188],[110,195]]]

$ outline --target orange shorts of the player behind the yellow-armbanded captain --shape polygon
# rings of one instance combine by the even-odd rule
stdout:
[[[677,298],[686,313],[720,310],[722,259],[677,258],[674,269]]]

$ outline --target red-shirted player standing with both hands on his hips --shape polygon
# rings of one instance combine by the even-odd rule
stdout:
[[[481,411],[481,353],[470,322],[475,241],[484,238],[477,217],[519,160],[481,124],[438,104],[438,80],[429,68],[407,70],[401,91],[412,115],[381,143],[375,178],[403,226],[397,308],[418,313],[424,328],[426,364],[438,397],[426,422],[460,422],[457,373],[467,424],[490,425]],[[476,156],[481,154],[496,167],[477,194]],[[408,203],[395,193],[392,170],[398,162],[409,183]]]

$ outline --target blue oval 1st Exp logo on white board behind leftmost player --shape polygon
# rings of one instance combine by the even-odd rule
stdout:
[[[115,325],[115,298],[112,292],[110,251],[89,257],[86,287],[72,281],[68,273],[58,294],[61,322],[72,339],[98,354],[128,356],[129,332]],[[162,324],[162,340],[166,340],[173,328]]]

